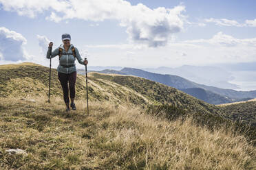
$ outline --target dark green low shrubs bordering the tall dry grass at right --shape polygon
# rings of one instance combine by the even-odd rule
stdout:
[[[190,117],[193,120],[193,123],[206,127],[211,131],[222,128],[228,130],[232,127],[233,133],[244,135],[249,143],[256,146],[256,128],[254,125],[246,123],[245,121],[231,121],[231,119],[224,119],[224,117],[219,114],[213,113],[191,113],[171,105],[151,105],[147,108],[146,112],[156,117],[163,117],[169,121],[174,121],[176,119],[184,120],[187,117]]]

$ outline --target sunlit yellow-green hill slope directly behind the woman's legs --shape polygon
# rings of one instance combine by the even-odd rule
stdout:
[[[92,101],[111,101],[115,104],[132,102],[152,104],[152,100],[134,90],[107,80],[97,80],[89,76],[89,97]],[[45,97],[49,89],[49,68],[32,63],[8,64],[0,66],[0,96],[2,97]],[[56,69],[52,69],[51,96],[63,94]],[[76,99],[85,99],[85,76],[76,77]]]

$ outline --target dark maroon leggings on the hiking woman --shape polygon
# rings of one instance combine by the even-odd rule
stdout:
[[[58,72],[58,80],[60,80],[61,86],[63,89],[63,99],[64,99],[65,103],[69,103],[70,98],[74,98],[76,95],[76,90],[75,90],[76,71],[74,71],[70,74]],[[68,82],[69,86],[67,86],[67,82]],[[69,88],[70,88],[70,98],[68,97]]]

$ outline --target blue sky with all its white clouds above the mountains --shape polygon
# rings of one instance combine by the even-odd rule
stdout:
[[[90,66],[253,63],[255,6],[254,0],[0,0],[0,64],[49,66],[47,45],[57,48],[64,33]]]

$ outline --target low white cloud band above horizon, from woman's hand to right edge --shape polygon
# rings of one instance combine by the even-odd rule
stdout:
[[[145,68],[256,62],[256,38],[239,39],[223,32],[209,39],[173,42],[156,49],[135,45],[87,45],[85,48],[90,51],[90,64],[94,66]]]

